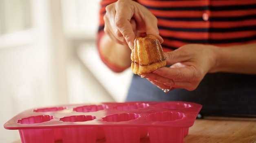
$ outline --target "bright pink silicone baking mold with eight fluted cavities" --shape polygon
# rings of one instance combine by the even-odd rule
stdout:
[[[200,104],[77,104],[26,110],[4,124],[22,143],[183,143]]]

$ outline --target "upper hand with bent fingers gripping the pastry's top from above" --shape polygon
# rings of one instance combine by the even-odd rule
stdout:
[[[134,40],[141,33],[155,35],[162,43],[157,28],[157,18],[141,4],[133,0],[118,0],[106,7],[104,32],[119,44],[132,49]]]

